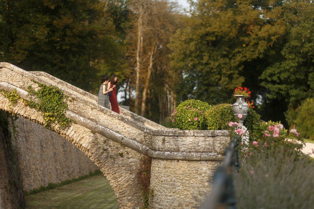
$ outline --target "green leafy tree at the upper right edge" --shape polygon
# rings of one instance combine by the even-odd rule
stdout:
[[[314,96],[314,6],[310,1],[291,1],[283,10],[280,54],[260,78],[270,99],[283,99],[295,109],[302,100]]]

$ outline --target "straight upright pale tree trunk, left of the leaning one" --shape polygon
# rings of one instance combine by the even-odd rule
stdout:
[[[141,51],[143,50],[143,7],[140,6],[138,13],[138,43],[136,51],[136,85],[135,85],[135,113],[139,113],[139,76],[142,67]]]

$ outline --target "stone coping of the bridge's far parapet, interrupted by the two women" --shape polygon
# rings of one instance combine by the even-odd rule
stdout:
[[[42,71],[28,71],[28,72],[30,72],[30,73],[32,73],[32,74],[34,74],[36,76],[46,77],[46,78],[48,78],[48,79],[50,79],[50,80],[52,80],[52,81],[54,81],[54,82],[56,82],[58,84],[62,84],[63,86],[66,86],[67,88],[69,88],[69,89],[71,89],[71,90],[73,90],[75,92],[78,92],[79,94],[82,94],[82,95],[84,95],[84,96],[86,96],[86,97],[88,97],[90,99],[98,101],[98,96],[96,96],[94,94],[91,94],[89,92],[86,92],[83,89],[78,88],[76,86],[73,86],[70,83],[62,81],[61,79],[56,78],[56,77],[54,77],[54,76],[52,76],[52,75],[50,75],[50,74],[48,74],[46,72],[42,72]],[[137,115],[137,114],[131,112],[130,110],[126,110],[121,105],[119,105],[119,108],[120,108],[120,113],[125,114],[125,115],[129,115],[130,117],[132,117],[135,120],[141,121],[143,123],[148,123],[151,126],[158,127],[159,129],[168,129],[168,128],[164,127],[164,126],[161,126],[158,123],[155,123],[154,121],[150,121],[150,120],[148,120],[148,119],[146,119],[146,118],[144,118],[144,117],[142,117],[140,115]]]

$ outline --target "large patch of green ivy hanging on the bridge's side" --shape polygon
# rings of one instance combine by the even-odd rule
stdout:
[[[38,86],[40,89],[37,92],[31,86],[28,86],[28,92],[39,99],[39,104],[30,101],[28,105],[31,108],[41,110],[41,115],[45,120],[44,126],[51,129],[51,125],[55,121],[59,124],[60,129],[70,126],[73,120],[65,116],[68,109],[66,103],[68,97],[62,94],[56,86],[46,86],[41,83],[38,83]]]

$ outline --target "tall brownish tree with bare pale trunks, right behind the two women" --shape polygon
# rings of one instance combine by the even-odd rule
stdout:
[[[152,98],[150,101],[147,99],[149,92],[152,92],[152,88],[154,88],[151,85],[154,83],[154,80],[151,79],[152,75],[156,70],[161,68],[169,70],[169,67],[161,66],[161,64],[167,65],[165,61],[169,62],[169,60],[164,59],[160,55],[164,53],[164,56],[166,56],[169,53],[167,44],[169,37],[178,27],[178,12],[176,11],[176,5],[167,0],[136,1],[133,2],[131,7],[134,11],[135,21],[133,31],[128,33],[127,36],[129,45],[134,43],[133,47],[129,48],[129,64],[133,70],[133,73],[130,73],[130,75],[131,77],[132,75],[135,77],[133,77],[133,86],[136,95],[135,113],[140,113],[144,116],[146,114],[147,103],[150,103],[152,100]],[[164,76],[167,75],[158,78],[160,83],[165,82],[163,79]],[[163,90],[164,86],[161,87]],[[158,99],[155,101],[158,102]],[[148,104],[148,106],[150,105]]]

